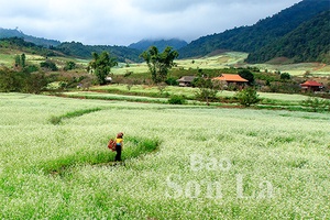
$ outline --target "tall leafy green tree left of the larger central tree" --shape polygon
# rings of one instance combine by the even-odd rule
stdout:
[[[92,61],[88,64],[88,70],[92,70],[98,78],[98,82],[105,85],[106,77],[109,75],[111,67],[118,63],[116,58],[110,57],[108,52],[102,52],[100,55],[94,52],[91,56]]]

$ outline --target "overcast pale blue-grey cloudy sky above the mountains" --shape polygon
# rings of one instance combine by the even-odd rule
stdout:
[[[0,0],[0,28],[28,35],[124,45],[142,38],[197,40],[252,25],[301,0]]]

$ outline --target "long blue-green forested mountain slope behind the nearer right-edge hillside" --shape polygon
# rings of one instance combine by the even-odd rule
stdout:
[[[235,28],[193,41],[179,50],[179,58],[205,56],[222,50],[256,52],[329,10],[329,0],[302,0],[271,18],[260,20],[254,25]]]

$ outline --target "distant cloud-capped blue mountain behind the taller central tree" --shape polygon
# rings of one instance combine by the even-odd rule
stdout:
[[[130,48],[136,48],[141,52],[146,51],[150,46],[156,46],[161,52],[163,52],[167,46],[173,47],[173,50],[179,50],[186,46],[188,43],[178,38],[170,40],[142,40],[138,43],[130,44]]]

